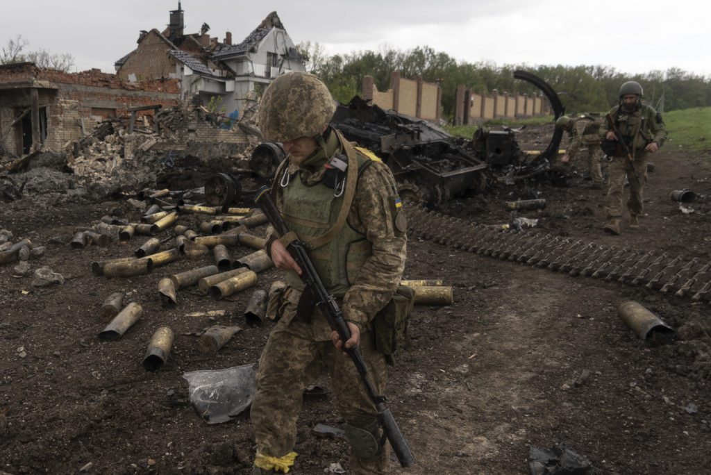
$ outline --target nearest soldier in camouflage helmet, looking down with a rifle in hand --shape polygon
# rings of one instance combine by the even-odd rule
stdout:
[[[334,112],[326,85],[307,73],[279,76],[264,91],[258,112],[264,138],[282,142],[288,154],[274,176],[272,197],[289,230],[306,242],[352,335],[343,342],[331,331],[304,292],[301,269],[269,229],[266,250],[274,265],[287,272],[288,285],[279,302],[270,304],[279,320],[257,370],[251,410],[255,474],[287,473],[294,465],[302,393],[322,369],[331,375],[336,405],[346,421],[350,473],[382,474],[388,466],[378,412],[351,358],[339,348],[358,346],[382,394],[386,358],[374,344],[373,318],[402,277],[407,223],[390,169],[328,125]]]

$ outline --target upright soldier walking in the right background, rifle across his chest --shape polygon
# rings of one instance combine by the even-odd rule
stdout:
[[[667,137],[661,114],[643,104],[642,95],[642,86],[636,81],[621,85],[619,103],[600,127],[603,149],[612,160],[608,166],[607,220],[603,230],[612,235],[621,233],[625,178],[629,182],[629,227],[639,228],[642,193],[647,182],[647,157],[655,153]]]

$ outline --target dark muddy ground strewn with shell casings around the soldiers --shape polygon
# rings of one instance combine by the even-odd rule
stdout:
[[[521,140],[535,146],[540,131]],[[540,142],[540,140],[539,140]],[[545,142],[545,139],[543,139]],[[545,146],[545,144],[543,145]],[[579,175],[567,188],[540,185],[547,208],[539,218],[552,235],[631,245],[709,262],[710,154],[688,153],[673,139],[653,157],[641,230],[615,237],[600,230],[603,191]],[[670,192],[690,188],[697,199],[683,214]],[[449,203],[446,210],[481,223],[506,223],[503,201],[522,193],[500,187],[487,196]],[[46,245],[33,269],[49,266],[64,284],[33,287],[0,267],[0,473],[7,474],[249,474],[253,433],[246,414],[208,425],[188,401],[183,373],[255,363],[271,324],[249,326],[251,291],[215,301],[179,292],[177,308],[161,305],[157,282],[210,264],[180,260],[152,274],[107,279],[90,265],[125,257],[146,240],[72,249],[75,228],[102,215],[137,220],[125,201],[91,203],[52,195],[1,205],[0,228]],[[258,228],[261,231],[262,228]],[[247,253],[246,249],[236,252]],[[268,289],[279,277],[260,274]],[[402,474],[525,474],[530,447],[566,442],[604,474],[702,474],[711,465],[710,305],[639,287],[528,267],[454,250],[412,235],[405,277],[441,278],[454,304],[417,306],[412,348],[390,370],[389,407],[417,458]],[[107,324],[102,301],[122,290],[144,315],[118,341],[97,338]],[[627,299],[641,302],[677,329],[672,343],[641,341],[617,316]],[[187,316],[225,309],[211,321]],[[197,331],[215,323],[242,331],[216,356],[198,351]],[[146,372],[141,360],[153,331],[176,335],[168,363]],[[586,378],[585,375],[589,374]],[[307,395],[299,422],[294,472],[341,473],[346,443],[315,437],[317,423],[342,420],[328,393]],[[397,463],[393,463],[393,467]]]

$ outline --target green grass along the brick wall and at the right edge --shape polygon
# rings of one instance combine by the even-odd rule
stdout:
[[[663,114],[663,119],[669,132],[665,146],[674,146],[687,150],[711,150],[711,107],[697,107],[695,109],[673,110]],[[485,127],[520,127],[525,124],[539,125],[550,124],[552,116],[531,117],[528,119],[495,119],[484,122]],[[476,125],[446,126],[444,129],[455,137],[471,139]]]

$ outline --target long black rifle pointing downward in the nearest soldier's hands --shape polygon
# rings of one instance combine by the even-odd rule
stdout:
[[[277,206],[274,204],[274,200],[272,200],[272,196],[269,194],[268,186],[262,186],[257,191],[255,203],[257,203],[257,206],[264,212],[267,220],[269,220],[269,224],[274,228],[274,233],[277,233],[279,237],[289,233],[287,223],[284,222],[284,218],[282,218]],[[296,264],[301,267],[301,280],[304,281],[306,288],[313,294],[316,305],[320,306],[321,310],[324,311],[328,324],[331,325],[331,329],[338,332],[338,337],[341,338],[343,343],[346,343],[348,338],[351,338],[351,329],[348,328],[346,320],[343,319],[341,309],[338,309],[333,295],[328,293],[328,290],[324,287],[324,283],[321,282],[321,277],[316,273],[314,264],[311,262],[309,253],[306,251],[306,245],[304,242],[294,240],[287,245],[287,250],[289,250],[289,253],[294,257]],[[358,374],[360,374],[360,380],[363,381],[365,390],[368,391],[370,399],[375,403],[375,408],[378,410],[380,426],[383,427],[385,437],[390,441],[392,450],[395,452],[395,455],[397,455],[397,460],[399,460],[400,465],[404,467],[411,466],[415,463],[415,457],[412,456],[405,437],[402,436],[402,432],[400,432],[400,429],[397,427],[395,418],[392,417],[390,410],[385,407],[385,397],[375,393],[375,388],[373,388],[373,384],[370,383],[370,379],[368,378],[368,370],[365,368],[363,356],[360,355],[360,351],[358,351],[358,348],[355,346],[353,348],[343,346],[343,351],[348,353],[348,356],[353,360],[353,364],[358,370]]]

